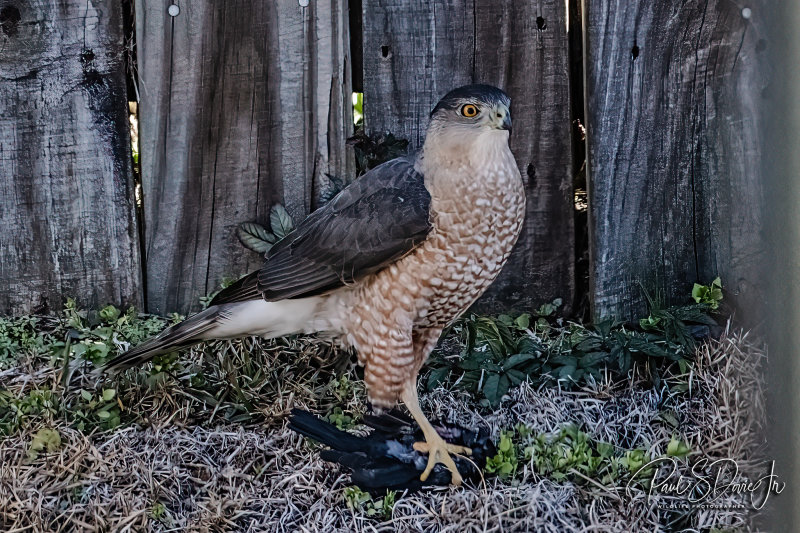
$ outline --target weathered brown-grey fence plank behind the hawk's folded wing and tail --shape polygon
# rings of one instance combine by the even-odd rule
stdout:
[[[353,173],[345,0],[137,2],[147,307],[197,309],[260,266],[235,229]]]

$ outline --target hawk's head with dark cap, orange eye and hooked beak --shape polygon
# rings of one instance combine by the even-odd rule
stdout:
[[[453,89],[431,111],[431,126],[462,126],[476,131],[511,132],[511,99],[491,85],[465,85]]]

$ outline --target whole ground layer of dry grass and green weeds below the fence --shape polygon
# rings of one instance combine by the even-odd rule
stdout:
[[[559,302],[458,322],[423,372],[422,403],[436,418],[491,429],[498,453],[484,482],[373,496],[286,428],[299,406],[363,430],[359,369],[325,341],[209,343],[98,380],[96,365],[180,317],[69,301],[60,316],[2,319],[0,527],[747,527],[733,495],[721,509],[648,498],[643,467],[656,458],[685,472],[703,457],[761,467],[763,351],[712,324],[721,293],[699,287],[684,306],[654,302],[634,324],[571,323]]]

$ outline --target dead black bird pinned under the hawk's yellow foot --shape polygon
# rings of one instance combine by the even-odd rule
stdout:
[[[392,410],[381,416],[367,415],[363,422],[373,431],[366,437],[359,437],[341,431],[308,411],[293,409],[289,428],[328,446],[329,449],[320,452],[320,457],[347,468],[353,483],[373,495],[385,494],[386,490],[413,492],[423,486],[450,484],[451,473],[441,464],[434,467],[425,482],[420,481],[428,458],[414,449],[422,430],[412,419]],[[441,422],[433,425],[445,441],[472,449],[469,458],[455,456],[454,460],[464,479],[477,483],[486,459],[497,453],[489,431]]]

